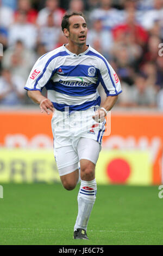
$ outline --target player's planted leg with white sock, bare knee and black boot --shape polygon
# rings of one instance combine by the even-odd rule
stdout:
[[[78,193],[78,216],[74,225],[75,239],[87,239],[87,223],[96,200],[95,166],[100,151],[101,145],[97,141],[87,138],[79,140],[78,154],[81,184]]]

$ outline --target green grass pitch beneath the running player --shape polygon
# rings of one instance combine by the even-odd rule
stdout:
[[[2,184],[0,245],[162,245],[158,186],[99,186],[87,235],[73,240],[79,186]]]

